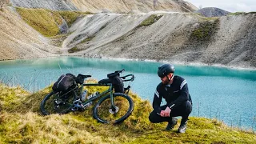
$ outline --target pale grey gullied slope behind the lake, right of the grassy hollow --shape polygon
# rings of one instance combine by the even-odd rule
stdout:
[[[256,14],[203,18],[196,14],[95,14],[76,22],[63,47],[86,57],[154,59],[235,67],[256,66]],[[90,41],[86,39],[89,38]]]

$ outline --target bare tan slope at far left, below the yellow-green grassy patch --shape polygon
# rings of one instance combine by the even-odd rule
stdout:
[[[38,58],[56,55],[58,47],[50,46],[12,9],[0,10],[0,60]]]

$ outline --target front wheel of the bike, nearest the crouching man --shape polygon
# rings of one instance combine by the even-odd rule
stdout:
[[[103,97],[94,106],[94,118],[102,123],[123,122],[134,110],[133,100],[126,94],[114,93],[114,106],[111,106],[110,95]]]

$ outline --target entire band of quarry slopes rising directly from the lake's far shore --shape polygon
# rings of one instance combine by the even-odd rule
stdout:
[[[0,13],[1,60],[71,54],[256,67],[255,13],[205,18],[177,12],[90,14],[11,7]]]

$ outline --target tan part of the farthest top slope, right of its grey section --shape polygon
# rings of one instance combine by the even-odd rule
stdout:
[[[114,13],[127,13],[131,10],[150,12],[153,10],[168,10],[191,12],[197,7],[182,0],[72,0],[79,10],[100,12],[104,9]]]

